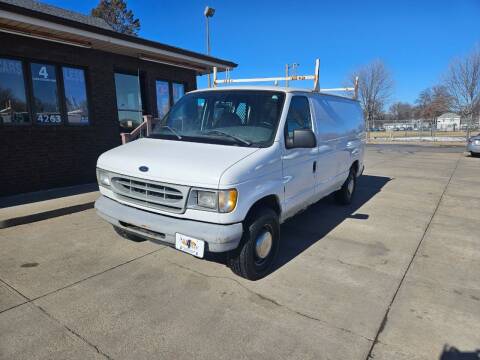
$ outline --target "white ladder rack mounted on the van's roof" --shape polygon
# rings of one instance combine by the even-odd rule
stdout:
[[[353,92],[353,98],[358,98],[358,76],[355,77],[354,87],[339,87],[339,88],[320,88],[320,59],[315,60],[315,73],[313,75],[291,75],[279,76],[279,77],[265,77],[265,78],[248,78],[248,79],[232,79],[230,77],[230,69],[225,72],[226,78],[221,80],[217,78],[217,68],[213,68],[213,87],[221,84],[239,84],[239,83],[252,83],[252,82],[274,82],[285,81],[285,86],[288,87],[289,81],[295,80],[313,80],[313,89],[315,92]]]

